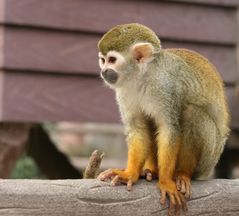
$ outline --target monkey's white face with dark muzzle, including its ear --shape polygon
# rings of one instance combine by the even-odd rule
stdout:
[[[99,52],[100,75],[111,88],[122,86],[134,79],[142,65],[153,59],[153,53],[150,43],[137,43],[124,53],[112,50],[103,55]]]

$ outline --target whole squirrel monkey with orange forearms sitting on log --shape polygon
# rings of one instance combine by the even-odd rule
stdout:
[[[118,25],[99,41],[101,77],[115,90],[128,143],[124,170],[100,180],[127,184],[142,171],[159,178],[160,203],[169,214],[186,210],[191,179],[207,177],[229,133],[224,87],[216,68],[186,49],[162,49],[148,27]]]

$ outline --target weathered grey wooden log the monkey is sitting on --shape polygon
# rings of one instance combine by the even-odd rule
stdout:
[[[0,215],[167,215],[155,182],[133,191],[98,180],[1,180]],[[190,215],[239,215],[239,180],[193,182]]]

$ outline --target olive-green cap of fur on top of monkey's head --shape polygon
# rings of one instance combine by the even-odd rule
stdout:
[[[160,48],[160,40],[148,27],[130,23],[117,25],[103,35],[98,43],[98,48],[103,55],[110,50],[126,51],[129,46],[137,42],[149,42],[155,48]]]

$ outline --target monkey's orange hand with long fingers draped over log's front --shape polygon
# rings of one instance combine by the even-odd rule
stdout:
[[[177,190],[175,182],[169,180],[167,182],[159,182],[161,191],[160,203],[165,206],[166,196],[169,198],[169,216],[179,216],[181,209],[187,211],[187,204],[184,196]]]

